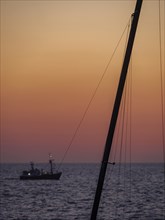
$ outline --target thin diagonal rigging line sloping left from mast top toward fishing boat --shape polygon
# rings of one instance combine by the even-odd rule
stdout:
[[[131,19],[131,17],[129,18],[129,21],[130,21],[130,19]],[[93,94],[91,96],[91,99],[89,100],[89,103],[87,104],[87,107],[86,107],[86,109],[85,109],[85,111],[84,111],[84,113],[82,115],[82,118],[81,118],[80,122],[78,123],[78,125],[76,127],[76,130],[75,130],[75,132],[74,132],[74,134],[73,134],[73,136],[72,136],[72,138],[71,138],[71,140],[69,142],[69,145],[68,145],[68,147],[67,147],[67,149],[66,149],[66,151],[64,153],[64,156],[63,156],[63,158],[62,158],[62,160],[61,160],[61,162],[59,164],[59,168],[61,167],[61,165],[62,165],[62,163],[63,163],[63,161],[64,161],[64,159],[65,159],[65,157],[66,157],[66,155],[67,155],[67,153],[68,153],[68,151],[69,151],[69,149],[70,149],[70,147],[71,147],[71,145],[72,145],[72,143],[73,143],[73,141],[74,141],[74,139],[75,139],[75,137],[76,137],[80,127],[81,127],[81,125],[82,125],[82,122],[84,121],[84,118],[85,118],[85,116],[86,116],[86,114],[87,114],[87,112],[89,110],[89,107],[91,106],[91,103],[92,103],[92,101],[93,101],[93,99],[94,99],[94,97],[95,97],[95,95],[96,95],[96,93],[98,91],[98,88],[100,87],[100,84],[101,84],[101,82],[102,82],[102,80],[103,80],[103,78],[104,78],[104,76],[105,76],[105,74],[106,74],[106,72],[108,70],[108,67],[109,67],[109,65],[110,65],[110,63],[111,63],[111,61],[112,61],[112,59],[113,59],[113,57],[114,57],[114,55],[115,55],[115,53],[116,53],[116,51],[118,49],[118,46],[119,46],[119,44],[120,44],[120,42],[121,42],[121,40],[122,40],[122,38],[124,36],[124,33],[125,33],[126,29],[127,29],[127,26],[129,25],[129,21],[127,22],[127,25],[124,28],[124,31],[123,31],[123,33],[122,33],[122,35],[121,35],[121,37],[120,37],[120,39],[119,39],[119,41],[117,43],[117,45],[116,45],[112,55],[111,55],[111,58],[110,58],[108,64],[106,65],[105,70],[103,71],[101,79],[99,80],[99,82],[98,82],[98,84],[97,84],[97,86],[96,86],[96,88],[95,88],[95,90],[94,90],[94,92],[93,92]]]

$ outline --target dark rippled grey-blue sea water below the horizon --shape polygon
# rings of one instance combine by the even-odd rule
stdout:
[[[90,219],[99,165],[65,164],[60,181],[19,180],[27,168],[1,164],[1,220]],[[113,172],[109,165],[98,220],[163,220],[163,209],[163,164],[115,165]]]

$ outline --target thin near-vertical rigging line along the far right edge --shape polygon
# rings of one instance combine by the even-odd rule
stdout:
[[[160,79],[161,79],[161,120],[162,120],[162,144],[164,159],[164,204],[165,204],[165,125],[164,125],[164,94],[163,94],[163,63],[162,63],[162,32],[161,32],[161,2],[159,0],[159,60],[160,60]],[[163,209],[165,218],[165,208]]]

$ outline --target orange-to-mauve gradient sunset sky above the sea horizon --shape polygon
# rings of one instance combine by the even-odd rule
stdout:
[[[51,152],[59,162],[135,1],[0,4],[1,161],[45,162]],[[126,34],[65,162],[101,161],[125,41]],[[143,3],[132,62],[132,160],[161,162],[158,1]]]

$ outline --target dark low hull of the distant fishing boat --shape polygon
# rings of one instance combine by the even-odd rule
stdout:
[[[21,175],[20,180],[59,180],[62,172],[42,175]]]

